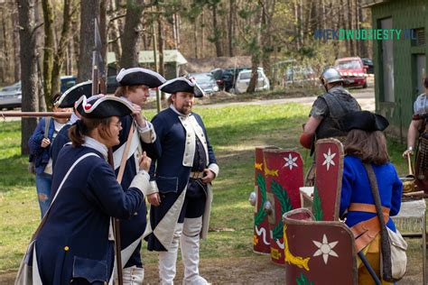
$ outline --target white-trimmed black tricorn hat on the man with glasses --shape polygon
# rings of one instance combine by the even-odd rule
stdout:
[[[107,118],[110,116],[130,115],[133,112],[125,100],[114,96],[97,95],[91,98],[82,96],[76,102],[75,106],[79,114],[85,118]]]

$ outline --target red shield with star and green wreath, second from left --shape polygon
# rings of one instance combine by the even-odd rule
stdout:
[[[275,263],[284,264],[282,216],[301,207],[299,188],[303,186],[303,162],[299,152],[293,151],[265,150],[264,156],[271,258]]]

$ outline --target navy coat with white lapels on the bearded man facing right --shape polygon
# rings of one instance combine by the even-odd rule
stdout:
[[[155,251],[168,250],[171,245],[173,230],[181,215],[191,174],[196,137],[204,148],[207,168],[216,176],[219,173],[219,166],[200,115],[179,115],[172,108],[171,106],[154,116],[152,124],[157,138],[153,146],[147,147],[152,158],[152,191],[158,191],[161,195],[161,205],[151,207],[150,225],[147,225],[144,233],[148,241],[147,248]],[[205,217],[209,216],[210,201],[207,205]]]

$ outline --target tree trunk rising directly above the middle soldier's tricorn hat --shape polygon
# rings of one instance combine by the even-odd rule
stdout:
[[[141,19],[144,12],[144,0],[126,1],[125,29],[122,36],[122,58],[120,67],[124,69],[138,66],[138,55],[140,53],[139,39],[141,34]]]

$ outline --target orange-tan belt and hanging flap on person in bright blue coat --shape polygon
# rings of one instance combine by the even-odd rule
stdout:
[[[376,206],[373,204],[351,203],[348,211],[358,211],[367,213],[377,213]],[[389,220],[389,208],[382,207],[385,223]],[[380,223],[377,216],[373,216],[366,221],[359,222],[357,225],[352,225],[350,231],[355,237],[355,247],[357,252],[361,251],[370,244],[380,232]]]

